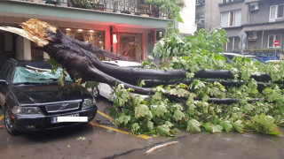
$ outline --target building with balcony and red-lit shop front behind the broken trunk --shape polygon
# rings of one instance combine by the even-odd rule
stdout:
[[[82,1],[81,1],[82,2]],[[146,59],[164,34],[170,19],[144,0],[1,0],[0,26],[19,27],[30,19],[42,19],[65,34],[135,61]],[[185,1],[182,34],[193,34],[195,2]],[[190,14],[191,16],[185,16]],[[19,60],[48,58],[41,48],[16,34],[0,32],[0,56]]]

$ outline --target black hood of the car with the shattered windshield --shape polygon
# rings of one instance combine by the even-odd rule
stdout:
[[[64,87],[59,90],[58,86],[24,86],[14,87],[13,92],[20,105],[44,104],[51,102],[64,102],[91,98],[87,92],[81,92],[74,87]]]

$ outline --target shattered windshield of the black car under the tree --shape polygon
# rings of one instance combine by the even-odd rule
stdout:
[[[51,71],[38,71],[34,69],[28,69],[21,66],[16,67],[14,74],[13,84],[20,83],[57,83],[60,77],[60,70],[58,69],[54,73]],[[67,75],[66,81],[72,82],[73,80]]]

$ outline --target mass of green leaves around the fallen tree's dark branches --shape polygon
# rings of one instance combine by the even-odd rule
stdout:
[[[117,98],[111,109],[116,124],[136,134],[166,136],[175,135],[177,129],[190,133],[237,131],[281,134],[277,125],[284,125],[284,91],[283,85],[275,81],[284,81],[284,64],[252,64],[246,57],[236,57],[233,64],[226,64],[225,58],[217,54],[225,42],[225,31],[220,28],[209,34],[201,30],[188,37],[172,34],[154,47],[153,54],[160,55],[162,64],[145,61],[143,65],[159,69],[183,68],[191,72],[188,73],[189,79],[193,78],[194,72],[203,69],[232,72],[237,69],[233,80],[241,86],[225,87],[221,80],[206,82],[205,79],[193,79],[189,85],[178,83],[154,87],[155,94],[143,99],[139,95],[131,97],[128,94],[130,89],[118,85],[114,91]],[[272,77],[263,88],[257,87],[256,80],[251,78],[260,73],[268,73]],[[144,84],[139,82],[140,86],[141,83]],[[173,100],[169,95],[180,100]],[[216,104],[209,102],[210,98],[233,98],[239,99],[239,102]]]

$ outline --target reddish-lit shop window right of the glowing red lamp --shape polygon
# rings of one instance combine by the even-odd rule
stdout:
[[[119,34],[119,55],[135,61],[143,60],[142,34]]]

